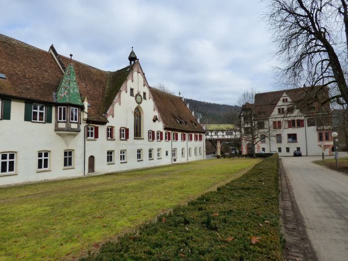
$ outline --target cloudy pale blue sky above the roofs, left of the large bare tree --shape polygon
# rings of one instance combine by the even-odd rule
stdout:
[[[235,104],[275,89],[259,0],[0,0],[0,33],[97,67],[128,65],[131,47],[150,85]]]

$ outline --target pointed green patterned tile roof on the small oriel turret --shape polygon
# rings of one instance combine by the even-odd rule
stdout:
[[[82,106],[78,82],[76,81],[75,70],[69,64],[65,70],[63,80],[57,90],[57,102],[69,103]]]

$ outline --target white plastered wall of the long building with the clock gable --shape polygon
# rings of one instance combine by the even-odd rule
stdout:
[[[181,141],[181,133],[178,132],[178,141],[149,141],[148,130],[160,130],[165,133],[160,115],[156,109],[149,88],[144,84],[146,80],[141,72],[134,72],[128,81],[118,92],[115,100],[107,112],[109,123],[98,126],[99,137],[95,140],[85,139],[86,123],[81,124],[81,132],[72,138],[68,145],[63,138],[55,132],[55,106],[52,111],[52,123],[34,123],[24,121],[24,101],[12,99],[11,119],[0,120],[0,153],[16,152],[15,175],[0,175],[0,185],[19,183],[26,181],[38,181],[60,177],[83,176],[88,173],[88,157],[94,156],[93,174],[103,174],[130,169],[153,167],[172,163],[172,148],[177,149],[177,163],[204,159],[204,134],[202,141]],[[133,96],[130,96],[130,88],[134,88],[134,94],[139,91],[142,95],[147,92],[147,99],[140,105],[143,115],[143,139],[134,139],[134,109],[138,106]],[[160,121],[153,122],[156,115]],[[89,124],[92,125],[93,124]],[[107,140],[107,126],[114,127],[114,140]],[[120,140],[120,127],[129,128],[129,139]],[[165,134],[163,134],[165,135]],[[171,132],[172,135],[172,132]],[[186,134],[187,135],[187,134]],[[194,134],[193,134],[194,135]],[[171,136],[172,137],[172,136]],[[186,137],[187,139],[187,137]],[[86,162],[84,170],[84,146],[86,145]],[[199,155],[201,147],[201,155]],[[162,149],[161,159],[157,158],[157,149]],[[185,148],[184,157],[181,157],[181,148]],[[188,157],[187,148],[191,148],[192,156]],[[194,155],[197,148],[197,156]],[[137,149],[143,150],[143,160],[137,160]],[[153,149],[153,160],[149,160],[148,150]],[[37,152],[50,151],[50,171],[37,171]],[[74,150],[74,168],[63,169],[64,150]],[[107,164],[106,152],[114,151],[114,164]],[[127,163],[120,163],[120,150],[127,150]],[[168,151],[168,156],[166,156]],[[173,161],[174,162],[174,161]]]

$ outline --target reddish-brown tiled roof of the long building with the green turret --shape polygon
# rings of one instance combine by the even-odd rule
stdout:
[[[90,122],[106,123],[104,116],[134,65],[116,72],[102,71],[0,34],[0,95],[56,103],[53,93],[63,79],[60,67],[74,66],[82,100],[87,97]],[[186,104],[178,96],[150,88],[166,129],[204,132]],[[177,120],[181,123],[178,123]],[[184,123],[186,122],[186,124]]]

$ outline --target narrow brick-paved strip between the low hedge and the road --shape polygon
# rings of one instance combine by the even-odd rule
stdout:
[[[285,239],[283,258],[285,261],[317,261],[281,159],[278,174],[280,231]]]

